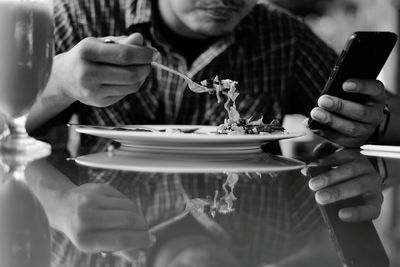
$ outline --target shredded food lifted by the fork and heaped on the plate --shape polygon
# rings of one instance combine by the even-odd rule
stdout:
[[[218,126],[218,134],[241,135],[286,133],[285,128],[283,128],[277,120],[265,124],[262,116],[258,120],[253,120],[253,117],[248,119],[240,117],[240,114],[236,109],[236,99],[239,96],[236,89],[236,81],[229,79],[220,80],[218,76],[216,76],[214,79],[202,81],[201,85],[215,89],[218,103],[221,102],[221,93],[228,98],[224,105],[225,110],[228,112],[228,118],[225,119],[223,124]]]

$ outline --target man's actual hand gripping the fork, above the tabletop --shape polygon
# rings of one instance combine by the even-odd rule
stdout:
[[[150,73],[154,50],[143,46],[143,37],[89,37],[54,59],[48,88],[51,95],[72,104],[106,107],[135,93]]]

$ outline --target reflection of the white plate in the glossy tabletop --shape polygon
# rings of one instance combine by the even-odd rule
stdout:
[[[246,154],[150,153],[117,149],[75,159],[80,165],[101,169],[157,173],[268,173],[301,169],[301,161],[264,152]]]

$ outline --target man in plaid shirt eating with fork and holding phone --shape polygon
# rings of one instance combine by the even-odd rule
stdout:
[[[245,118],[269,122],[311,111],[330,128],[320,135],[347,147],[365,143],[384,121],[386,94],[378,81],[343,85],[365,94],[365,105],[318,99],[337,55],[294,17],[257,0],[57,0],[55,26],[57,56],[29,116],[31,131],[47,131],[46,122],[66,123],[72,114],[95,125],[223,122],[227,114],[214,95],[194,94],[180,78],[151,70],[150,47],[158,61],[195,81],[215,75],[238,81],[237,108]],[[395,140],[393,128],[382,140]]]

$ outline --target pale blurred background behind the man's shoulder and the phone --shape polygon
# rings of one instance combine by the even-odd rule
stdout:
[[[260,0],[290,10],[302,18],[338,53],[355,31],[394,31],[398,28],[399,0]],[[397,51],[379,79],[398,92]]]

